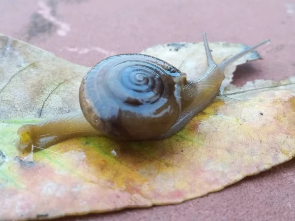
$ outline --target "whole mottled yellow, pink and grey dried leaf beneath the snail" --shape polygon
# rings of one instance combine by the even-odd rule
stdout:
[[[203,43],[183,44],[178,50],[172,44],[145,52],[176,66],[182,63],[191,77],[204,68],[204,58],[196,55],[204,55]],[[0,220],[179,203],[295,155],[295,78],[289,78],[228,85],[169,139],[75,138],[34,152],[33,161],[21,159],[14,146],[17,128],[40,116],[78,110],[78,87],[88,68],[4,35],[0,45]],[[210,47],[221,61],[244,46]],[[252,53],[239,62],[257,58]],[[228,71],[228,79],[231,75]]]

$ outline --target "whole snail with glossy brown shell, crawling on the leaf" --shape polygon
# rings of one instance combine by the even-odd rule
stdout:
[[[169,138],[206,108],[219,92],[225,68],[269,42],[216,64],[203,33],[207,70],[196,81],[157,57],[144,54],[112,55],[83,78],[79,89],[82,112],[21,126],[18,147],[45,148],[66,139],[105,136],[140,141]]]

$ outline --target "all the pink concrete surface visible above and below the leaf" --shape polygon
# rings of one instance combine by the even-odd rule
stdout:
[[[295,75],[294,0],[0,0],[1,33],[89,66],[155,44],[198,42],[204,31],[209,41],[271,40],[259,49],[264,60],[238,67],[237,85]],[[295,160],[182,204],[61,220],[295,220]]]

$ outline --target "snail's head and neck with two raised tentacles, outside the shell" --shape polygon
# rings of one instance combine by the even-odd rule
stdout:
[[[203,40],[207,57],[207,69],[196,82],[187,81],[186,85],[182,86],[181,115],[173,127],[158,138],[169,138],[183,129],[195,115],[204,110],[215,98],[219,92],[222,81],[225,79],[225,68],[242,56],[269,42],[269,40],[263,41],[229,57],[220,64],[216,64],[211,55],[206,33],[203,33]]]

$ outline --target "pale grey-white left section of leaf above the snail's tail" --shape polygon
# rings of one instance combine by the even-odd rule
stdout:
[[[80,109],[76,98],[88,67],[1,34],[0,50],[0,118],[52,117]]]

